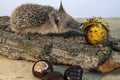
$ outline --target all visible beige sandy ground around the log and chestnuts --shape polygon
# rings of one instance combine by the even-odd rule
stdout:
[[[120,38],[120,18],[109,18],[105,20],[111,26],[110,35]],[[33,62],[10,60],[4,56],[0,56],[0,80],[40,80],[32,75],[33,64]],[[65,69],[64,67],[54,68],[61,72],[64,72]],[[120,80],[120,71],[109,74],[90,72],[84,74],[83,80]]]

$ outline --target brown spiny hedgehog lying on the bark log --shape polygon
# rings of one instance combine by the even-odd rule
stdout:
[[[10,28],[16,33],[66,33],[69,31],[81,32],[82,23],[73,19],[63,8],[49,5],[26,3],[13,10],[10,16]]]

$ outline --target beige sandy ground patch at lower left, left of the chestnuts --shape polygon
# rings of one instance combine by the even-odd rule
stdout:
[[[0,80],[38,80],[32,75],[32,62],[0,56]]]

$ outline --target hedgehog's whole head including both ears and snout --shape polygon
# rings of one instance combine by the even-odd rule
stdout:
[[[66,13],[62,3],[60,4],[58,12],[51,12],[49,14],[49,18],[57,33],[65,33],[69,31],[81,32],[81,23],[75,21],[69,14]]]

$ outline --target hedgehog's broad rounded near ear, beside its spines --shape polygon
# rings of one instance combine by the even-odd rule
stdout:
[[[49,19],[50,19],[50,22],[52,23],[52,25],[57,28],[59,26],[59,23],[60,23],[60,19],[58,17],[58,13],[53,11],[49,14]]]

